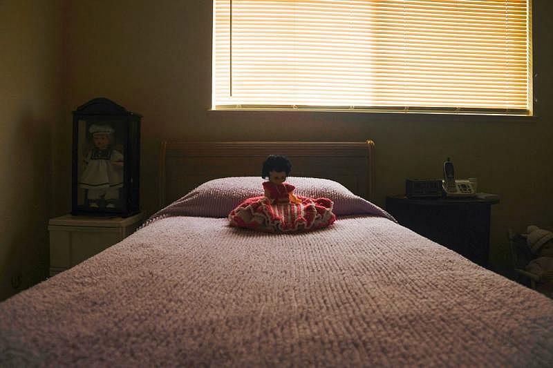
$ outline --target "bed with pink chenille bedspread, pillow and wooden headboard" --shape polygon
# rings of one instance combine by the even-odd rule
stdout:
[[[228,225],[269,153],[335,201],[332,226]],[[372,204],[374,157],[371,141],[164,142],[163,209],[0,303],[0,366],[552,366],[553,301]]]

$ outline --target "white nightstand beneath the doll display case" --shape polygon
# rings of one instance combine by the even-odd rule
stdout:
[[[142,220],[144,213],[125,218],[64,215],[50,219],[50,276],[120,242]]]

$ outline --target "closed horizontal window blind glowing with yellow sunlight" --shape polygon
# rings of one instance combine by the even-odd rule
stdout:
[[[532,113],[527,0],[214,0],[213,108]]]

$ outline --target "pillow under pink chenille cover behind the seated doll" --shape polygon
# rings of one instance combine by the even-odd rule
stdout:
[[[265,180],[261,177],[223,177],[209,180],[193,191],[165,207],[151,220],[167,216],[227,217],[238,204],[250,197],[263,195]],[[294,194],[305,197],[326,197],[334,202],[335,215],[376,215],[393,220],[393,217],[351,193],[345,186],[327,179],[315,177],[288,177],[286,182],[296,186]],[[148,223],[151,221],[148,221]]]

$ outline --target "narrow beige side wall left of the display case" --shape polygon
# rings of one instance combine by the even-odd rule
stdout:
[[[48,274],[61,9],[60,1],[0,1],[0,300]]]

